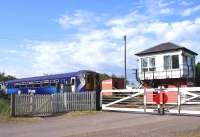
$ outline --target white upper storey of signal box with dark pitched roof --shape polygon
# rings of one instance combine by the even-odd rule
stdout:
[[[148,84],[162,83],[187,85],[195,78],[194,51],[177,44],[167,42],[151,47],[139,53],[139,79]]]

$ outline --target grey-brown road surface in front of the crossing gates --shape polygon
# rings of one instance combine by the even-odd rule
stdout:
[[[179,137],[200,133],[200,117],[98,112],[31,123],[0,123],[0,137]]]

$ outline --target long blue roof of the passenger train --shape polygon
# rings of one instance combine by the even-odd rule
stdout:
[[[96,73],[96,72],[90,71],[90,70],[80,70],[80,71],[77,71],[77,72],[70,72],[70,73],[63,73],[63,74],[55,74],[55,75],[47,75],[47,76],[38,76],[38,77],[9,80],[6,83],[7,84],[14,84],[14,83],[22,83],[22,82],[55,80],[55,79],[62,79],[62,78],[67,78],[67,77],[79,76],[81,74],[86,74],[86,73]]]

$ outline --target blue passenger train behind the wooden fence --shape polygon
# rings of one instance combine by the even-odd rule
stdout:
[[[6,94],[53,94],[94,91],[99,88],[99,83],[98,73],[81,70],[64,74],[10,80],[1,83],[1,89]],[[2,87],[6,87],[5,90]]]

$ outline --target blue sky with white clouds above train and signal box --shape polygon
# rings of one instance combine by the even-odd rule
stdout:
[[[123,75],[136,52],[174,42],[200,52],[199,0],[0,0],[0,72]],[[197,57],[200,61],[200,57]]]

